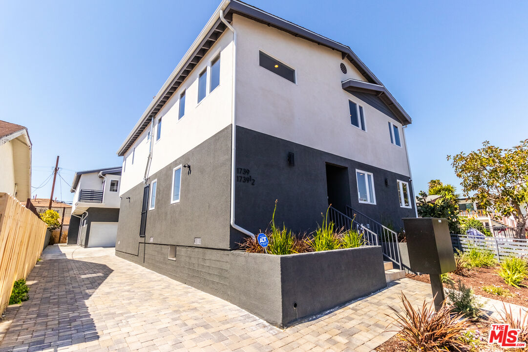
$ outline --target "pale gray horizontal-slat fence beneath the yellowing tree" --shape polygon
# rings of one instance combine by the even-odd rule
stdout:
[[[471,248],[487,249],[495,254],[497,260],[507,256],[528,256],[528,239],[513,239],[501,237],[473,237],[467,235],[451,234],[453,247],[460,251],[469,251]]]

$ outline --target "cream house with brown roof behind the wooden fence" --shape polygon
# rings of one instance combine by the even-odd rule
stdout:
[[[31,198],[31,140],[27,128],[0,121],[0,192]]]

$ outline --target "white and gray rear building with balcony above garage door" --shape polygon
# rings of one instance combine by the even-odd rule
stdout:
[[[121,166],[76,172],[71,192],[68,244],[81,247],[116,245]]]

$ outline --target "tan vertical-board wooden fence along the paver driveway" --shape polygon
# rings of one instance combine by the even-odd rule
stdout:
[[[0,193],[0,314],[13,283],[25,278],[44,246],[46,224],[7,193]]]

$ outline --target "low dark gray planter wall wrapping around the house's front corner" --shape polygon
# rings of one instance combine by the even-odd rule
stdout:
[[[137,243],[116,255],[232,302],[277,326],[385,287],[381,247],[276,256]],[[294,308],[294,302],[297,307]]]

